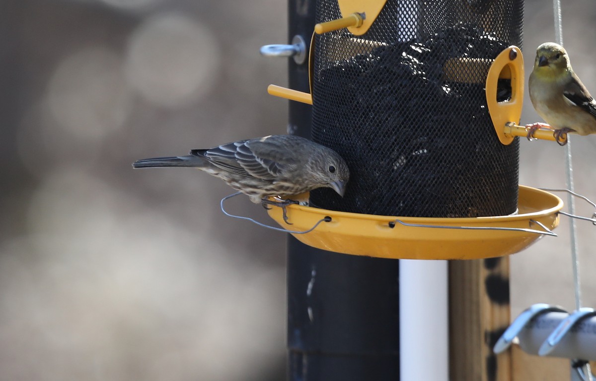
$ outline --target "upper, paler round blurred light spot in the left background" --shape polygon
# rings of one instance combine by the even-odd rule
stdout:
[[[206,26],[184,14],[158,14],[132,34],[126,78],[146,100],[177,108],[209,92],[219,59],[216,39]]]

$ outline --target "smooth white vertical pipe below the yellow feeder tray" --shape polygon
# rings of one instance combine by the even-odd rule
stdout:
[[[399,261],[400,380],[449,380],[448,266],[444,260]]]

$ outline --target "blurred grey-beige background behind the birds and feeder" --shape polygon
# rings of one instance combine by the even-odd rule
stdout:
[[[596,8],[563,4],[596,92]],[[524,54],[554,40],[527,0]],[[0,380],[283,380],[285,235],[225,217],[220,180],[136,159],[287,132],[285,1],[4,0],[0,12]],[[527,99],[522,123],[539,121]],[[564,151],[522,141],[520,183],[565,187]],[[573,137],[596,200],[596,137]],[[564,194],[561,197],[565,197]],[[576,201],[578,213],[594,210]],[[262,216],[246,198],[232,212]],[[263,219],[263,221],[267,221]],[[577,223],[596,307],[594,226]],[[511,257],[512,314],[573,309],[569,219]]]

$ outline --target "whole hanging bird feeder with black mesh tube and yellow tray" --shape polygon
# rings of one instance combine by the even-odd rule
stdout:
[[[327,217],[296,238],[378,257],[502,256],[552,234],[561,200],[518,184],[522,17],[522,0],[319,0],[311,95],[269,92],[312,103],[313,141],[350,181],[288,207],[294,225],[269,215],[290,232]]]

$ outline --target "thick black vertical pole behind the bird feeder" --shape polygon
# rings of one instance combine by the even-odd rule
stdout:
[[[288,0],[288,32],[311,40],[314,0]],[[289,64],[309,92],[308,60]],[[288,130],[311,136],[311,106],[290,102]],[[399,261],[349,256],[288,238],[288,380],[399,380]]]

